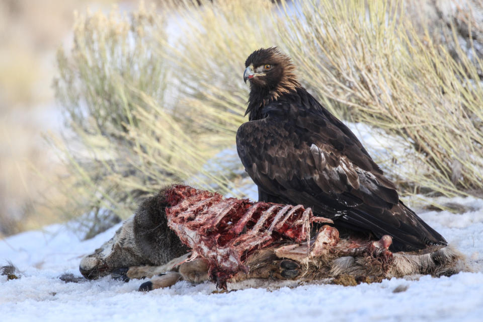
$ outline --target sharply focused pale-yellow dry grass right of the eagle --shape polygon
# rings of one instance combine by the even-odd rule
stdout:
[[[401,3],[319,3],[304,2],[300,10],[318,23],[307,28],[294,21],[294,29],[305,26],[310,46],[290,32],[284,35],[310,87],[337,102],[333,109],[343,106],[354,120],[411,144],[397,160],[408,165],[404,173],[386,166],[401,187],[444,195],[480,192],[480,59],[470,60],[460,46],[459,59],[453,59],[427,30],[418,33]]]

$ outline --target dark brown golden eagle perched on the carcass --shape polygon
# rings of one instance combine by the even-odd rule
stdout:
[[[392,236],[391,251],[428,253],[446,240],[399,200],[354,133],[297,81],[276,47],[245,62],[249,122],[236,133],[259,201],[302,204],[338,227]]]

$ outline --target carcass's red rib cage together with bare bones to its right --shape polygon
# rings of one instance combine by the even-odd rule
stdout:
[[[279,205],[250,202],[248,199],[223,198],[217,193],[174,186],[167,191],[168,225],[185,245],[192,249],[190,260],[203,258],[210,279],[219,287],[238,272],[248,273],[244,264],[255,251],[274,247],[274,254],[308,263],[314,258],[337,256],[369,256],[387,271],[392,261],[388,247],[392,238],[358,243],[339,243],[339,231],[324,225],[310,239],[312,222],[332,222],[314,217],[302,205]],[[306,240],[306,244],[301,244]]]

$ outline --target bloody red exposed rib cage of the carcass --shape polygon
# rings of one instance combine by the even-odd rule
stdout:
[[[168,225],[193,250],[191,259],[209,262],[210,277],[218,285],[236,272],[248,273],[244,260],[255,250],[287,241],[310,239],[313,217],[302,205],[251,202],[223,198],[218,193],[177,185],[166,192]]]

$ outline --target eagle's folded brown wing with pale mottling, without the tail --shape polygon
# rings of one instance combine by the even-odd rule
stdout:
[[[330,198],[337,203],[324,205],[336,209],[362,204],[389,209],[397,204],[395,187],[359,140],[328,119],[314,117],[285,124],[267,117],[240,126],[238,155],[257,185],[274,196],[293,191],[308,199]]]

